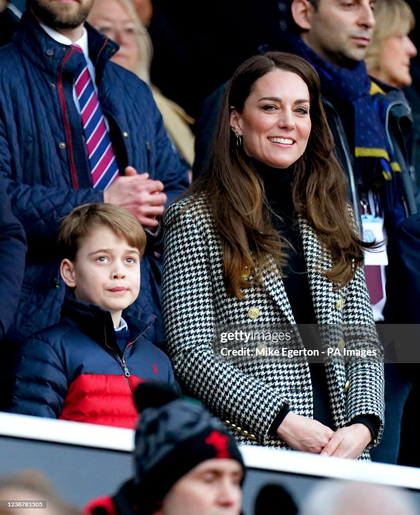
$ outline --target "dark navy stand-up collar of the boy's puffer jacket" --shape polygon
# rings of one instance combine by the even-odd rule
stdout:
[[[118,351],[115,339],[114,324],[111,313],[102,310],[94,304],[79,302],[73,295],[67,294],[61,308],[61,317],[76,324],[86,335],[106,350]],[[155,316],[142,314],[138,318],[131,318],[125,311],[122,318],[127,322],[130,339],[134,340],[145,332],[153,323]]]

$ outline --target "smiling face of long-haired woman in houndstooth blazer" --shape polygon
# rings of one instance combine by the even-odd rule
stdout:
[[[243,150],[274,168],[287,168],[305,151],[311,130],[309,91],[295,73],[274,70],[254,83],[231,127],[242,134]]]

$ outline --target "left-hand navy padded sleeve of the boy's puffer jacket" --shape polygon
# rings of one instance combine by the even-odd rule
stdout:
[[[46,339],[31,338],[16,367],[11,413],[59,418],[67,393],[64,365]]]

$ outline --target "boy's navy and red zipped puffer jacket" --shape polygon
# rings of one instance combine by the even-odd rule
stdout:
[[[118,345],[112,318],[66,297],[60,322],[22,347],[10,411],[24,415],[134,428],[135,387],[158,381],[176,388],[168,356],[153,345],[153,315],[129,318]]]

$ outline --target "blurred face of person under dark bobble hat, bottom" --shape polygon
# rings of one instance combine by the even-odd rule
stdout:
[[[172,486],[153,515],[239,515],[242,476],[234,459],[207,459]]]

